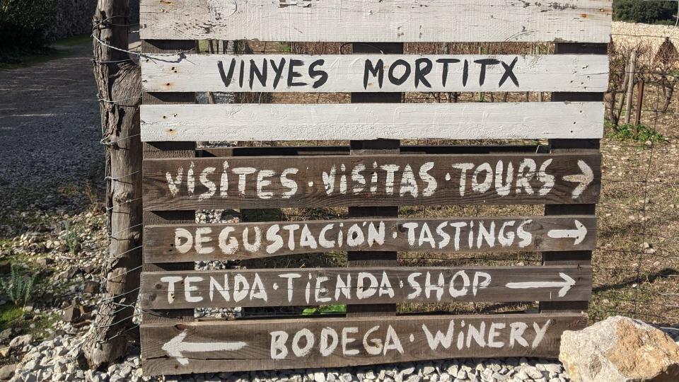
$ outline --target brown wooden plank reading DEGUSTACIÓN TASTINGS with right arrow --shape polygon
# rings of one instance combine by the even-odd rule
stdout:
[[[144,227],[146,262],[243,260],[346,250],[592,250],[595,216],[345,219]]]

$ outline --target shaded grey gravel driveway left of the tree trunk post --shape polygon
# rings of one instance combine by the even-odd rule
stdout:
[[[59,185],[81,182],[103,168],[91,47],[63,49],[70,51],[68,57],[0,71],[0,200],[5,206],[23,205],[31,193],[54,197]],[[7,229],[2,223],[0,234]]]

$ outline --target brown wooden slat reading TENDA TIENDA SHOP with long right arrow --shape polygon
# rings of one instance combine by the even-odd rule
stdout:
[[[145,309],[586,301],[590,267],[368,267],[144,272]]]

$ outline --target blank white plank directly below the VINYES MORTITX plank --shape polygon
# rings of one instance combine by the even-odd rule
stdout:
[[[603,103],[142,105],[142,141],[601,138]]]

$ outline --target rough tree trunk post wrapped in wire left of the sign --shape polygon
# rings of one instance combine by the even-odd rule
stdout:
[[[139,287],[141,265],[141,71],[127,49],[127,0],[98,0],[94,15],[94,74],[98,85],[103,142],[107,156],[109,242],[106,292],[83,346],[92,369],[125,353]],[[111,102],[115,101],[115,102]]]

